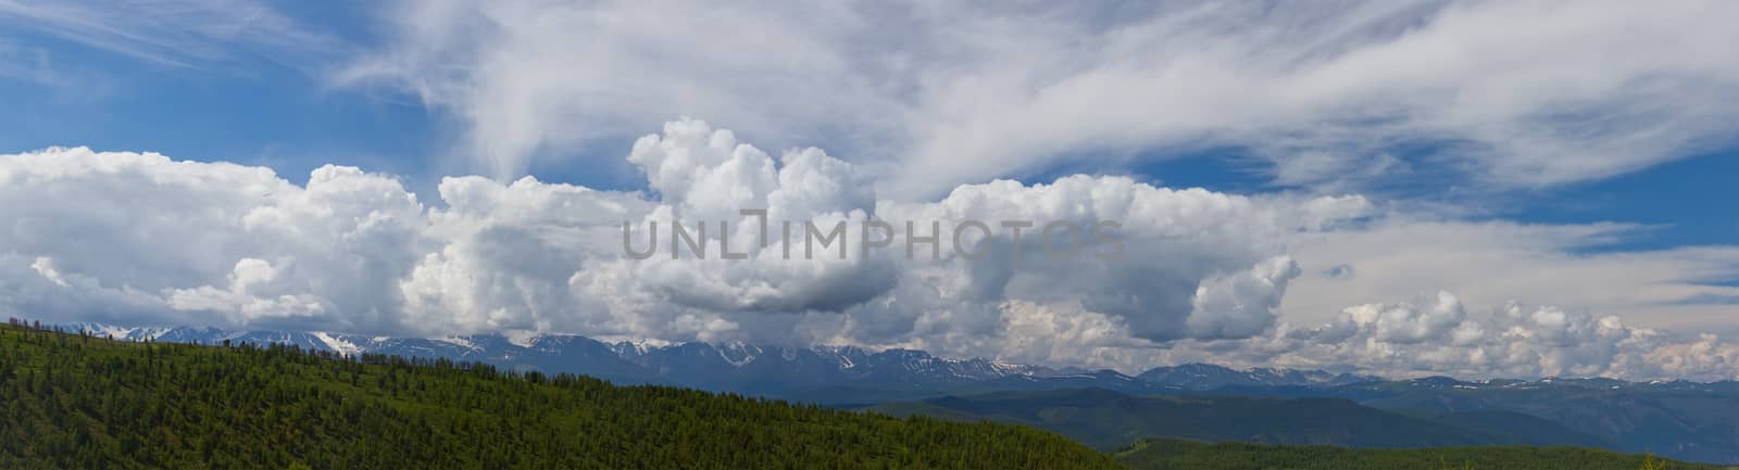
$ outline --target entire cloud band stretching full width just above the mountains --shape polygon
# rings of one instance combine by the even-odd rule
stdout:
[[[819,149],[774,158],[701,121],[666,125],[628,160],[652,193],[449,177],[438,201],[424,201],[393,177],[348,166],[316,168],[297,186],[268,168],[160,154],[5,154],[0,310],[424,336],[852,343],[1123,371],[1207,359],[1732,378],[1739,364],[1732,343],[1682,338],[1643,316],[1718,309],[1682,304],[1730,295],[1708,281],[1739,272],[1739,251],[1577,253],[1628,225],[1436,220],[1379,212],[1360,196],[1235,196],[1087,175],[890,201],[861,166]],[[796,238],[784,258],[777,236],[755,245],[758,225],[739,208],[767,208],[774,232],[784,219],[847,220],[852,246],[843,258],[805,260]],[[673,260],[666,229],[656,257],[630,260],[624,220],[727,220],[744,258],[720,258],[711,231],[711,257]],[[864,220],[889,222],[896,243],[864,255]],[[918,236],[932,234],[932,220],[943,227],[937,258],[929,246],[904,257],[908,220]],[[988,239],[962,239],[995,255],[956,255],[948,234],[965,220],[995,227]],[[1019,258],[1002,220],[1035,222]],[[1122,246],[1082,236],[1076,255],[1050,257],[1045,241],[1064,245],[1043,236],[1052,220],[1122,222]],[[1329,267],[1358,274],[1315,274]],[[1457,295],[1369,304],[1440,288]],[[1462,298],[1567,307],[1511,304],[1482,316]]]

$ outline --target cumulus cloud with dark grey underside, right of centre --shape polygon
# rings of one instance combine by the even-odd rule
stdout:
[[[1012,231],[1003,231],[983,248],[998,250],[998,257],[948,257],[943,267],[927,267],[939,279],[936,291],[969,302],[1073,304],[1120,319],[1136,338],[1163,342],[1259,333],[1273,321],[1285,284],[1297,276],[1297,267],[1282,255],[1283,239],[1367,208],[1356,196],[1264,199],[1076,175],[1035,186],[1012,180],[962,186],[937,203],[887,203],[880,213],[890,220],[941,220],[941,227],[962,220],[991,225],[1029,220],[1035,229],[1019,245]],[[1120,251],[1083,243],[1075,257],[1045,255],[1052,239],[1040,225],[1071,222],[1087,231],[1103,220],[1120,222]],[[929,232],[918,227],[918,236]]]

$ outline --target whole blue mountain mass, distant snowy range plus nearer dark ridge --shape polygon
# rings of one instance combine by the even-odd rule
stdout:
[[[1000,420],[1052,428],[1101,449],[1144,437],[1353,447],[1572,444],[1739,463],[1736,382],[1384,380],[1214,364],[1162,366],[1130,376],[1111,369],[946,359],[904,349],[635,343],[532,333],[390,338],[108,324],[63,330],[134,342],[287,343],[339,354],[447,357],[516,371],[579,373],[614,383],[678,385],[835,408],[875,406],[871,409],[894,415]],[[1240,397],[1252,401],[1236,401]],[[1050,399],[1106,404],[1089,413],[1080,406],[1047,404]],[[993,413],[984,409],[989,404],[995,404]],[[1212,420],[1233,420],[1235,427],[1210,425]],[[1341,434],[1313,428],[1332,423],[1346,427]]]

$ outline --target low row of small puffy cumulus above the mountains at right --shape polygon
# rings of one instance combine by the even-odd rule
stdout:
[[[1636,328],[1617,316],[1508,302],[1469,314],[1449,291],[1344,309],[1318,326],[1280,324],[1247,340],[1252,359],[1356,366],[1396,376],[1739,378],[1739,343]]]

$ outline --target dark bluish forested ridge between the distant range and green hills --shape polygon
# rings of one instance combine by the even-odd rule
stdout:
[[[1078,388],[941,397],[878,404],[868,411],[1029,425],[1104,451],[1148,437],[1348,447],[1600,444],[1598,439],[1525,415],[1416,416],[1344,399],[1127,395]]]

